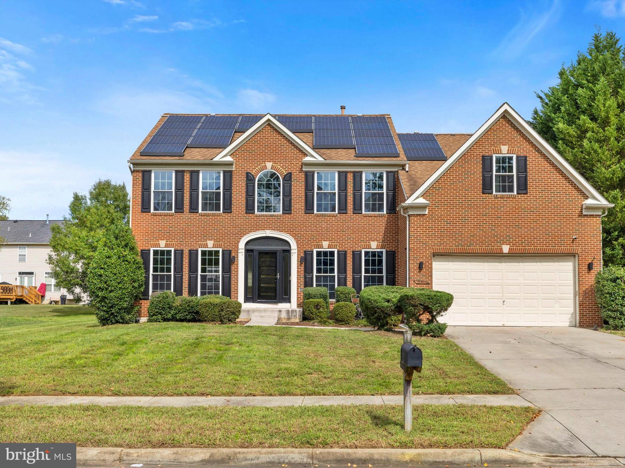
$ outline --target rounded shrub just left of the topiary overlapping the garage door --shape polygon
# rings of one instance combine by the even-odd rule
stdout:
[[[403,286],[367,286],[360,293],[364,318],[378,329],[396,327],[401,323],[401,307],[397,301],[401,293],[410,289]]]

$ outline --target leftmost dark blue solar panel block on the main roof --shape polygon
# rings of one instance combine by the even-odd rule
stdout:
[[[183,156],[203,115],[169,115],[141,150],[142,156]]]

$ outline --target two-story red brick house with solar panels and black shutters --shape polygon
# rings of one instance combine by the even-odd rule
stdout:
[[[509,105],[474,134],[389,115],[164,114],[129,160],[154,291],[301,318],[302,288],[454,294],[450,324],[601,324],[609,203]]]

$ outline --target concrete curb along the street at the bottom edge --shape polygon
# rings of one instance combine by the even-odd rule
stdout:
[[[319,466],[619,467],[612,457],[544,457],[506,449],[121,449],[78,447],[79,465],[129,466],[185,464],[206,466],[318,464]]]

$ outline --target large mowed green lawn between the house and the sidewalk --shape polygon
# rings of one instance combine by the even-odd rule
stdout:
[[[424,356],[415,394],[512,393],[452,341],[413,341]],[[84,306],[0,306],[0,394],[401,394],[401,343],[401,334],[287,326],[102,327]]]

